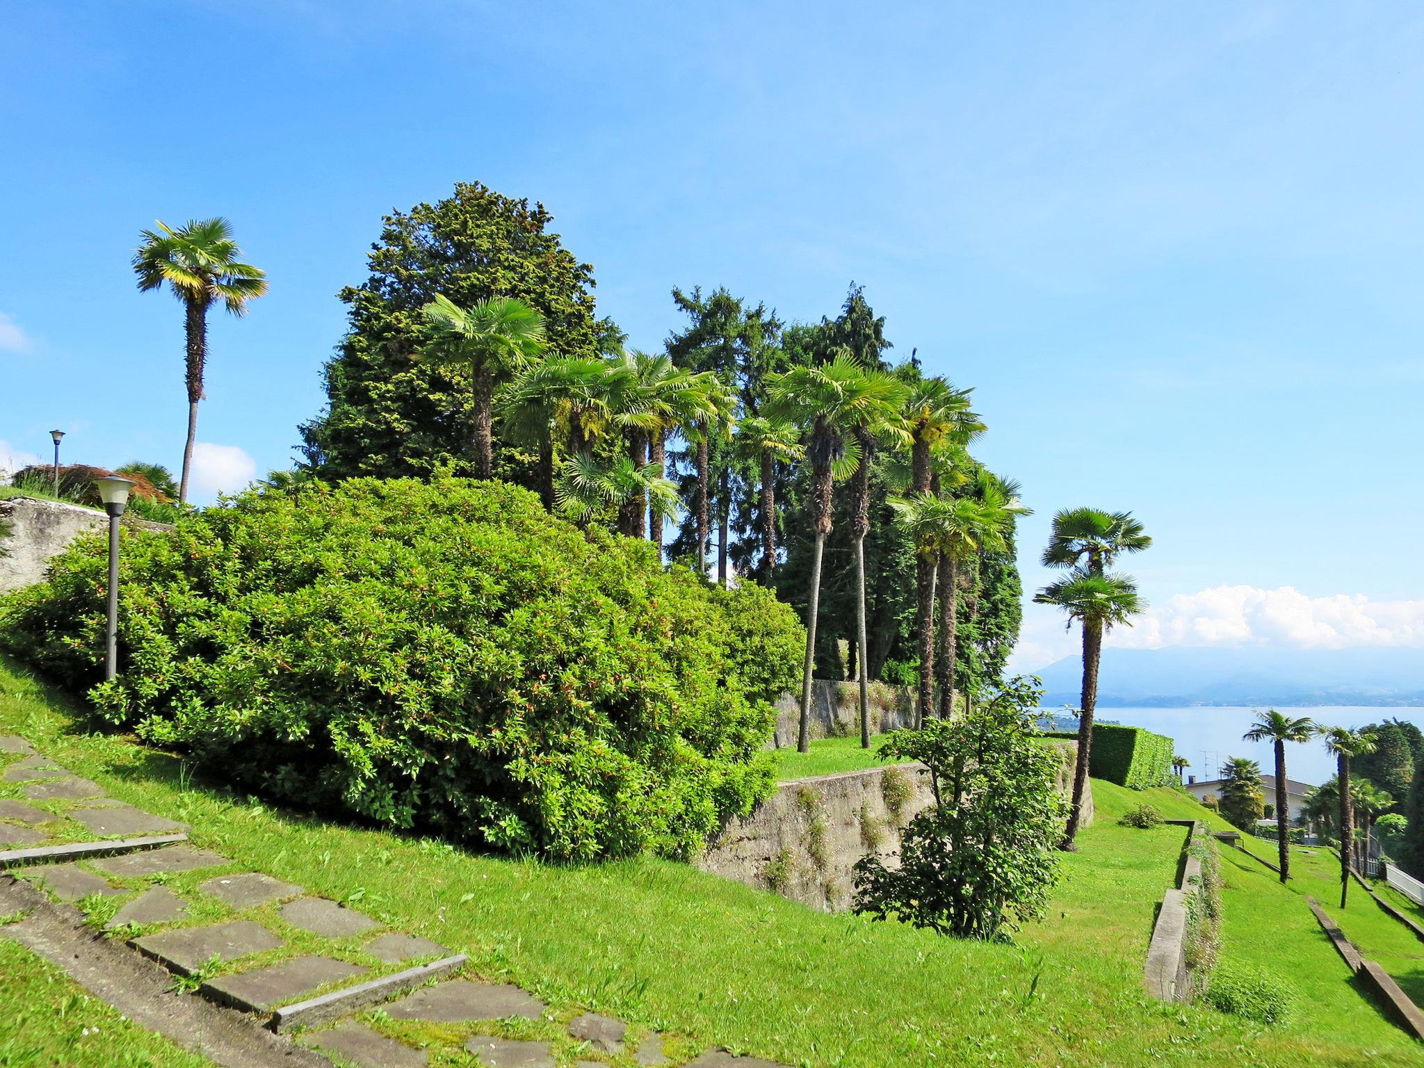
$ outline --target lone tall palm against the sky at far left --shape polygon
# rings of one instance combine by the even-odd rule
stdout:
[[[134,273],[140,292],[161,289],[167,282],[187,312],[188,439],[178,483],[178,503],[187,504],[192,446],[198,437],[198,402],[204,396],[202,373],[208,363],[208,309],[221,300],[232,315],[246,315],[248,302],[268,289],[266,272],[239,261],[242,249],[232,239],[232,224],[224,218],[194,221],[178,229],[162,222],[155,225],[157,231],[141,231]]]

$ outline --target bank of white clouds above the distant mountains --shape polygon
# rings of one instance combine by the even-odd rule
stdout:
[[[1022,639],[1014,652],[1018,671],[1042,668],[1077,655],[1077,628],[1064,629],[1049,609],[1025,612]],[[1114,629],[1106,645],[1122,649],[1165,646],[1260,646],[1343,649],[1401,646],[1424,649],[1424,601],[1371,601],[1363,594],[1307,597],[1294,587],[1260,590],[1219,585],[1176,594],[1155,605],[1132,627]]]

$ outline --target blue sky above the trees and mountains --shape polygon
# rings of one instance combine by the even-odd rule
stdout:
[[[1025,487],[1131,508],[1138,644],[1424,646],[1424,16],[1349,4],[0,3],[0,464],[177,467],[155,218],[222,214],[205,481],[286,466],[380,215],[545,202],[635,345],[674,285],[833,313],[975,399]],[[241,451],[238,451],[241,450]],[[1225,591],[1225,592],[1223,592]],[[1021,662],[1071,645],[1031,609]]]

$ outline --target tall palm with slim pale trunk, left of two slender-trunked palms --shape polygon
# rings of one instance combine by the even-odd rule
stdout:
[[[768,376],[763,414],[803,427],[812,467],[810,602],[806,609],[806,665],[802,676],[800,731],[796,746],[810,748],[812,669],[816,656],[816,614],[820,609],[820,564],[830,534],[830,496],[837,476],[860,464],[854,429],[889,420],[904,403],[904,386],[890,375],[866,370],[850,352],[837,350],[819,367],[793,367]],[[849,440],[847,440],[849,439]]]

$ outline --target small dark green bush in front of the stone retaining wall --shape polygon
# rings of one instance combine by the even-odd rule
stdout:
[[[887,736],[883,749],[930,768],[938,803],[904,829],[899,869],[856,863],[856,911],[988,940],[1044,914],[1067,803],[1034,729],[1037,695],[1015,681],[960,718]]]

